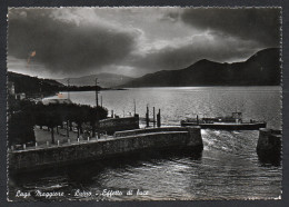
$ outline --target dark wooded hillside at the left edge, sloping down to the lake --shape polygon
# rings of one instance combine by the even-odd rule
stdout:
[[[52,79],[42,79],[37,77],[30,77],[27,75],[16,73],[8,71],[8,81],[14,83],[16,92],[26,92],[26,93],[49,93],[58,91],[59,88],[62,88],[63,85],[52,80]]]

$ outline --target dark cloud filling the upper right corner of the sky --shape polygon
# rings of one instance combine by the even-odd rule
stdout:
[[[183,22],[199,29],[216,30],[246,40],[256,40],[267,47],[280,41],[280,8],[186,9]]]

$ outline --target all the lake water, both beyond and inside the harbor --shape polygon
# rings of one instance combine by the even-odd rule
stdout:
[[[66,96],[66,93],[63,92]],[[280,87],[186,87],[138,88],[101,91],[102,105],[119,116],[137,112],[144,117],[147,105],[161,109],[161,122],[179,125],[186,117],[230,115],[241,111],[243,119],[265,120],[270,128],[281,128]],[[70,92],[73,102],[94,106],[94,92]],[[10,181],[10,196],[18,189],[64,191],[60,199],[168,200],[168,199],[268,199],[281,193],[281,166],[258,160],[258,130],[201,130],[205,149],[200,157],[166,155],[117,159],[77,168],[46,170]],[[77,190],[92,191],[90,197],[74,197]],[[131,196],[96,195],[103,190],[132,189]],[[136,195],[140,189],[148,195]],[[39,199],[39,198],[31,198]],[[59,199],[59,198],[56,198]]]

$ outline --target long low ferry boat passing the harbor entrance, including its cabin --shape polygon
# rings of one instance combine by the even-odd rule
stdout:
[[[250,120],[248,122],[242,120],[241,112],[232,112],[227,117],[213,117],[213,118],[188,118],[181,120],[181,126],[200,126],[202,129],[221,129],[221,130],[258,130],[259,128],[266,128],[267,122]]]

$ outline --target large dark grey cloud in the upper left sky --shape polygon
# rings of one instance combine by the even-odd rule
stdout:
[[[96,20],[98,21],[98,20]],[[136,33],[56,19],[51,10],[16,9],[9,12],[8,53],[34,61],[51,72],[79,73],[122,60],[134,47]]]

